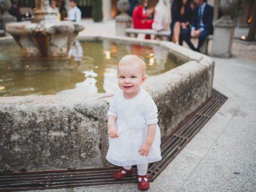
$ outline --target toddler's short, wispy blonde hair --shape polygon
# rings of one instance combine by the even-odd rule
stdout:
[[[142,70],[142,76],[145,76],[145,71],[146,71],[146,64],[145,64],[145,59],[142,56],[138,56],[138,55],[126,55],[124,56],[118,63],[117,66],[117,71],[118,71],[118,67],[119,66],[127,66],[133,63],[137,63],[141,70]]]

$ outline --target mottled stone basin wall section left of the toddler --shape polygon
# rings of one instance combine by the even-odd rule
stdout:
[[[1,97],[0,170],[104,164],[108,108],[94,95]]]

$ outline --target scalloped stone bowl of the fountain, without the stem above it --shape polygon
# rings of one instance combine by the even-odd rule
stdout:
[[[68,58],[69,50],[84,27],[75,22],[14,23],[6,26],[26,58]]]

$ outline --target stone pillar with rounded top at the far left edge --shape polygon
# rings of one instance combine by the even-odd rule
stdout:
[[[17,21],[16,17],[8,13],[8,10],[11,8],[11,6],[12,4],[10,0],[0,0],[0,11],[1,11],[0,23],[1,23],[2,29],[4,30],[4,36],[10,35],[5,31],[6,25]]]

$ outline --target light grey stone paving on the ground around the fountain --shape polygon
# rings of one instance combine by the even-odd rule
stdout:
[[[82,20],[80,36],[114,35],[114,22]],[[94,31],[97,29],[97,31]],[[86,31],[87,30],[87,31]],[[214,58],[213,87],[228,97],[210,121],[150,183],[151,192],[256,192],[256,45],[234,43],[233,58]],[[249,52],[250,51],[250,52]],[[249,52],[246,56],[244,54]],[[136,184],[47,190],[136,192]],[[38,191],[39,192],[39,191]]]

